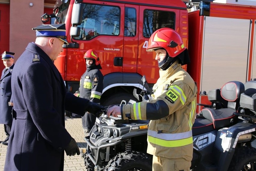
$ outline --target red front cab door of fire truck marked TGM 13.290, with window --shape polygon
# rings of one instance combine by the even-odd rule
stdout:
[[[102,74],[122,72],[124,4],[86,1],[83,3],[80,36],[74,37],[78,49],[71,49],[67,58],[67,79],[79,80],[86,70],[83,55],[94,49],[102,66]]]

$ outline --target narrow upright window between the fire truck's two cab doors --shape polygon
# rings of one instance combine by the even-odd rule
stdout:
[[[124,36],[134,37],[136,35],[136,9],[125,7]]]

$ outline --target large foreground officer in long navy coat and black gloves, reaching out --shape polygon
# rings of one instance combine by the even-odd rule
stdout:
[[[67,92],[53,64],[63,51],[65,24],[36,28],[35,43],[29,43],[17,60],[11,78],[13,128],[4,171],[62,171],[64,151],[80,154],[74,138],[65,129],[65,110],[84,115],[105,108]]]

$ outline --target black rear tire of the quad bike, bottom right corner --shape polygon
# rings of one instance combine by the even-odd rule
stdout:
[[[236,149],[228,171],[248,170],[256,170],[256,149],[253,147],[243,146]]]

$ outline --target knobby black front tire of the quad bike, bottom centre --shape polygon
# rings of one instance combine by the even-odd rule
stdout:
[[[120,153],[108,162],[104,171],[152,171],[152,157],[148,154],[133,151]]]

